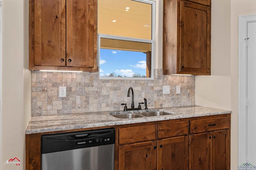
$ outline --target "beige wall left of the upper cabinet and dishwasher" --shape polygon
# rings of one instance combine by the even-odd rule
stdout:
[[[26,24],[24,24],[26,23]],[[2,127],[3,170],[25,167],[25,128],[31,115],[28,70],[28,0],[2,0]],[[18,158],[20,166],[5,164]]]

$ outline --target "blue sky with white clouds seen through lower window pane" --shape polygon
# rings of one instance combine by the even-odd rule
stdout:
[[[100,49],[100,77],[110,73],[132,77],[134,73],[146,76],[146,54],[136,51]]]

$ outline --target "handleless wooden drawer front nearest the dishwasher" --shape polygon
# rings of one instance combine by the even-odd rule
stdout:
[[[154,140],[156,125],[119,128],[119,144]]]

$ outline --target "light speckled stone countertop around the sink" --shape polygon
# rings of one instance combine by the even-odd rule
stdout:
[[[141,117],[133,119],[119,119],[113,117],[111,114],[120,113],[136,113],[145,112],[141,111],[102,111],[91,113],[76,113],[76,114],[64,114],[64,115],[48,115],[48,116],[33,116],[30,118],[28,126],[26,128],[26,134],[42,133],[42,132],[54,132],[62,130],[73,130],[92,127],[106,127],[112,125],[124,125],[131,123],[143,123],[152,121],[163,121],[170,119],[201,117],[210,115],[221,115],[226,113],[232,113],[232,111],[214,109],[210,107],[201,106],[184,106],[184,107],[165,107],[165,108],[153,108],[147,111],[164,111],[171,113],[170,115],[153,116],[153,117]]]

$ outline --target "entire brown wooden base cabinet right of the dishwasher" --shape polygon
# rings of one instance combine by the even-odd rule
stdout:
[[[118,170],[230,170],[230,114],[118,129]]]

